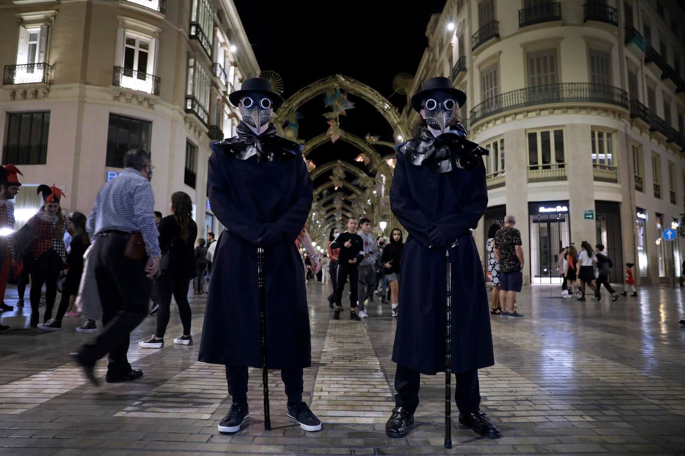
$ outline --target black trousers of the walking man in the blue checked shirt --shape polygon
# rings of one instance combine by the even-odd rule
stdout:
[[[86,366],[109,353],[108,375],[131,372],[127,353],[131,331],[147,316],[152,281],[145,274],[147,255],[142,259],[124,256],[127,236],[97,236],[90,261],[95,262],[95,279],[102,304],[103,329],[85,344],[78,357]]]

